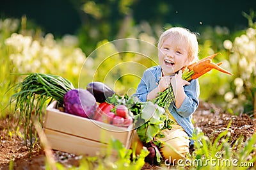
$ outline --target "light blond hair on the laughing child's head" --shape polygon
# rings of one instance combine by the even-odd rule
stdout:
[[[198,60],[198,42],[196,34],[184,27],[172,27],[164,31],[158,41],[158,49],[161,48],[166,38],[173,36],[172,42],[175,44],[186,43],[188,45],[188,59],[191,62]]]

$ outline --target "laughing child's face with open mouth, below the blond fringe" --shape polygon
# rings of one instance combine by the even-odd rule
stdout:
[[[175,42],[169,36],[158,49],[158,60],[164,75],[173,75],[183,66],[189,64],[188,45],[185,42]]]

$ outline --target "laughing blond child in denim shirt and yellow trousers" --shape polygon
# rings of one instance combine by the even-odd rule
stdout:
[[[197,79],[183,80],[181,70],[198,60],[198,42],[196,35],[188,29],[172,27],[159,37],[157,47],[159,65],[145,70],[134,95],[141,102],[153,100],[160,91],[172,85],[175,104],[170,105],[166,112],[176,125],[172,125],[171,130],[162,130],[164,137],[157,139],[165,143],[159,148],[164,160],[173,162],[184,158],[189,153],[189,144],[193,144],[189,140],[193,133],[191,118],[199,104],[200,88]],[[136,134],[132,143],[134,141],[138,141]],[[138,143],[142,146],[140,141]]]

